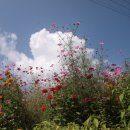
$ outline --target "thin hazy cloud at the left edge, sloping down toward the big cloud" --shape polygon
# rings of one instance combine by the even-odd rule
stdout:
[[[0,55],[8,58],[8,62],[28,63],[29,58],[16,50],[17,36],[14,33],[0,34]],[[26,62],[25,62],[26,60]]]

